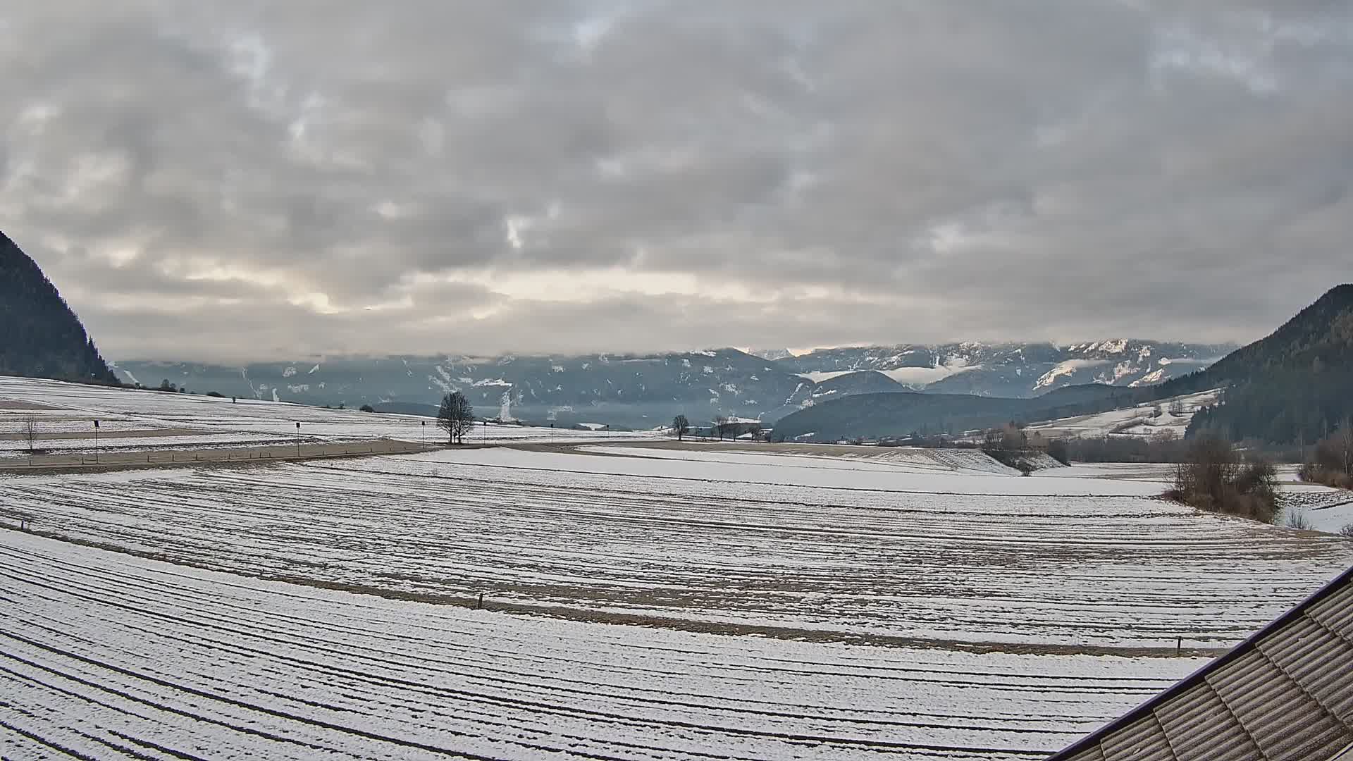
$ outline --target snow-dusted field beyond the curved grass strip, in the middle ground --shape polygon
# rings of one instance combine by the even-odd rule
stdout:
[[[24,477],[4,483],[0,513],[271,577],[1030,647],[1227,646],[1353,561],[1333,536],[1197,515],[1139,496],[1142,482],[787,459],[488,448]]]

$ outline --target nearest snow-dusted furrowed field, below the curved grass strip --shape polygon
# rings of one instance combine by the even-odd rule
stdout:
[[[1039,758],[1200,658],[720,636],[0,529],[5,758]]]

